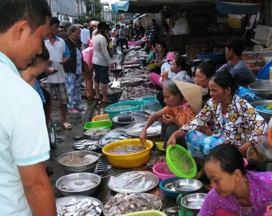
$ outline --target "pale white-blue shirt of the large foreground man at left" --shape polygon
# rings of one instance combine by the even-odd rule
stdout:
[[[0,215],[32,216],[17,166],[49,159],[44,111],[39,94],[1,52],[0,98]]]

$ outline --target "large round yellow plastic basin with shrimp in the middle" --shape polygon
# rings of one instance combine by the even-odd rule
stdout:
[[[117,154],[110,154],[108,153],[109,150],[116,148],[117,146],[126,146],[128,144],[131,145],[139,145],[140,139],[124,139],[119,140],[116,142],[109,143],[108,145],[104,146],[102,152],[104,155],[107,156],[110,164],[116,168],[135,168],[140,167],[143,164],[147,163],[149,160],[150,151],[153,148],[153,142],[150,140],[146,141],[147,149],[141,152],[137,152],[134,154],[124,154],[124,155],[117,155]]]

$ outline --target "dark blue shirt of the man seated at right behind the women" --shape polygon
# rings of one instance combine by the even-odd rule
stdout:
[[[240,60],[238,64],[228,63],[219,68],[216,72],[226,71],[233,75],[238,86],[248,86],[256,82],[256,77],[252,70],[248,67],[244,60]]]

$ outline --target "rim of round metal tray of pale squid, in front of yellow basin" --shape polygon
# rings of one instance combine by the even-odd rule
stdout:
[[[151,187],[149,187],[149,188],[146,189],[146,190],[143,190],[143,188],[141,188],[141,189],[138,190],[138,191],[129,190],[129,189],[127,189],[127,191],[126,191],[125,188],[120,189],[120,188],[111,187],[110,184],[109,184],[109,182],[110,182],[110,181],[109,181],[109,182],[108,182],[109,188],[111,188],[111,190],[113,190],[113,191],[115,191],[115,192],[124,192],[124,193],[143,193],[143,192],[147,192],[147,191],[152,190],[152,189],[155,188],[155,187],[158,185],[158,183],[159,183],[159,179],[158,179],[158,177],[157,177],[154,173],[145,172],[145,171],[125,172],[125,173],[117,174],[115,177],[118,177],[118,176],[120,176],[120,175],[124,175],[124,174],[126,174],[126,173],[146,173],[145,177],[147,177],[147,175],[149,175],[148,179],[149,179],[149,180],[152,180],[155,184],[152,185]]]

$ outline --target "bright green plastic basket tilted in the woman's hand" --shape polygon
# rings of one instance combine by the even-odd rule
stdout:
[[[169,145],[166,150],[166,163],[175,175],[182,178],[194,178],[197,172],[196,164],[192,155],[182,146],[174,148]]]

